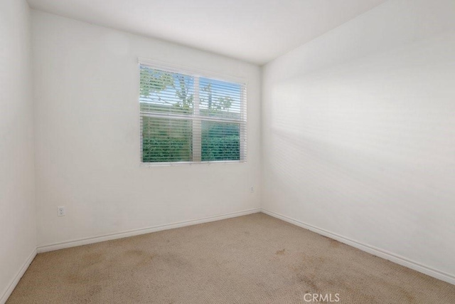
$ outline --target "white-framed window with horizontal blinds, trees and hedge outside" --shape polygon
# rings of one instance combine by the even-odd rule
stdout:
[[[141,162],[245,162],[245,83],[139,64]]]

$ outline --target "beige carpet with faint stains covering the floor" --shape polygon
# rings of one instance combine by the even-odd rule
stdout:
[[[455,285],[265,214],[38,254],[7,303],[306,303],[306,293],[455,303]]]

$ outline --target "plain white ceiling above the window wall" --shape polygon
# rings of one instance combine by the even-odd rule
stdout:
[[[28,0],[33,9],[262,65],[385,0]]]

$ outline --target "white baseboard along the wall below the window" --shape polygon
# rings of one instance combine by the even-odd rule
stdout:
[[[60,242],[60,243],[51,243],[48,245],[38,246],[37,251],[38,251],[38,253],[42,253],[42,252],[46,252],[46,251],[54,251],[54,250],[63,249],[63,248],[87,245],[89,243],[98,243],[98,242],[110,241],[110,240],[114,240],[114,239],[122,239],[122,238],[126,238],[128,236],[138,236],[139,234],[149,234],[151,232],[156,232],[156,231],[161,231],[161,230],[180,228],[180,227],[191,226],[191,225],[196,225],[196,224],[203,224],[203,223],[208,223],[210,221],[220,221],[221,219],[230,219],[232,217],[244,216],[247,214],[254,214],[254,213],[257,213],[260,211],[261,211],[260,208],[248,209],[248,210],[244,210],[244,211],[232,212],[230,214],[222,214],[222,215],[218,215],[218,216],[208,216],[208,217],[205,217],[202,219],[193,219],[190,221],[179,221],[178,223],[151,226],[151,227],[147,227],[147,228],[143,228],[143,229],[134,229],[134,230],[123,231],[123,232],[119,232],[119,233],[115,233],[115,234],[105,234],[103,236],[93,236],[93,237],[85,238],[85,239],[76,239],[76,240],[64,241],[64,242]]]

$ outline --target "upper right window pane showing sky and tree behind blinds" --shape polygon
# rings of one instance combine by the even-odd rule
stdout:
[[[240,120],[242,85],[201,77],[200,115]]]

